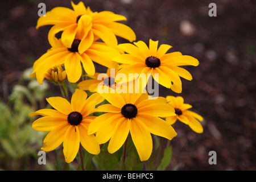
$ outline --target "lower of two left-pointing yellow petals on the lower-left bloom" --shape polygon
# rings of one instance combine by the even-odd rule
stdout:
[[[46,116],[36,119],[36,121],[32,123],[32,129],[36,131],[52,131],[57,126],[63,125],[64,123],[68,123],[67,119]]]

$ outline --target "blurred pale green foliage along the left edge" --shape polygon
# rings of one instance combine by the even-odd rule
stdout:
[[[20,83],[15,85],[9,102],[0,100],[0,168],[7,170],[28,169],[28,162],[35,160],[42,146],[42,134],[31,127],[28,114],[38,109],[45,98],[47,83],[42,87],[24,72]],[[22,85],[28,82],[27,86]]]

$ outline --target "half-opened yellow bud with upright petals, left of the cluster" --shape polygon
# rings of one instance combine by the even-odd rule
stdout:
[[[49,80],[53,82],[62,82],[67,78],[66,71],[63,71],[63,68],[60,64],[55,65],[53,68],[49,68],[46,73],[44,73],[44,76]]]

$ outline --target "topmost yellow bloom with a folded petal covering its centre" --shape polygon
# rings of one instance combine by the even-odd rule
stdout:
[[[84,6],[83,2],[75,5],[71,1],[73,10],[67,7],[55,7],[38,19],[36,28],[54,25],[48,34],[49,42],[55,38],[57,32],[63,31],[61,38],[63,44],[71,47],[76,34],[82,36],[82,44],[89,40],[102,39],[108,46],[116,46],[115,35],[133,42],[136,39],[135,33],[130,27],[117,21],[126,20],[125,16],[114,14],[111,11],[93,12],[90,7]],[[90,39],[84,39],[90,34]]]

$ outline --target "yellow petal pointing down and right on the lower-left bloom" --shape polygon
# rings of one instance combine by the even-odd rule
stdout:
[[[80,142],[82,147],[85,148],[90,154],[97,155],[100,153],[100,145],[96,142],[95,136],[88,135],[88,129],[82,123],[78,125],[79,127],[79,134],[80,134]]]

